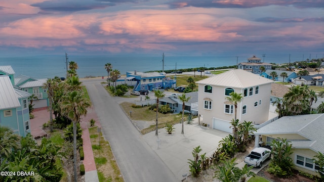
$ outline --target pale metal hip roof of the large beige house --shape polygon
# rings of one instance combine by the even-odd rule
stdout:
[[[232,69],[224,73],[197,81],[198,84],[245,88],[255,85],[270,84],[273,80],[242,69]]]

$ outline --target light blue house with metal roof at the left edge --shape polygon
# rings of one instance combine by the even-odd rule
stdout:
[[[31,94],[14,88],[12,79],[9,75],[0,75],[0,125],[26,136],[30,133],[28,97]]]

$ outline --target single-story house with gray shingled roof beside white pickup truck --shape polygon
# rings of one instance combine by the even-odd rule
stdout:
[[[324,114],[281,117],[254,133],[255,147],[258,147],[260,139],[263,145],[269,145],[277,138],[287,139],[293,147],[290,157],[295,164],[294,168],[317,175],[319,166],[314,163],[313,158],[318,152],[324,153],[323,128]]]

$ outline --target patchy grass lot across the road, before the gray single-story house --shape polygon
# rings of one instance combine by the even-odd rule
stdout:
[[[124,102],[121,103],[120,106],[124,110],[124,112],[133,120],[140,120],[140,121],[154,121],[156,119],[156,112],[149,110],[148,106],[144,106],[142,108],[132,108],[132,103]],[[130,112],[132,111],[132,117]],[[187,117],[185,115],[185,117]],[[162,114],[158,113],[158,128],[165,127],[166,123],[176,124],[180,123],[182,118],[181,114]],[[141,133],[146,134],[148,132],[155,130],[155,124],[149,126],[148,128],[142,129]]]

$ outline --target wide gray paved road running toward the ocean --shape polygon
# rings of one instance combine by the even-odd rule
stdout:
[[[83,80],[125,181],[178,181],[100,84]]]

